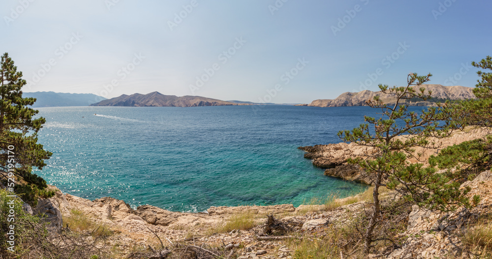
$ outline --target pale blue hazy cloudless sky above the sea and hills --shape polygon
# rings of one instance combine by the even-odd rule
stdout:
[[[473,87],[490,0],[2,0],[24,92],[308,103],[431,83]]]

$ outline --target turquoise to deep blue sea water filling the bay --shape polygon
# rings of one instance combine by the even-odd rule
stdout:
[[[340,142],[368,107],[53,107],[39,142],[53,152],[36,173],[63,192],[132,207],[300,205],[361,184],[323,175],[298,146]],[[97,114],[97,115],[94,115]]]

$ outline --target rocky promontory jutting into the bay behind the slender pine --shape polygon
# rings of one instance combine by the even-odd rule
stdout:
[[[418,147],[415,150],[415,154],[421,153],[422,161],[427,161],[431,155],[437,154],[437,152],[445,147],[460,144],[464,141],[469,141],[483,137],[485,132],[480,129],[472,129],[467,131],[455,131],[451,136],[443,139],[431,139],[430,142],[435,142],[435,148],[421,148]],[[312,160],[312,164],[326,168],[325,175],[342,178],[348,181],[361,182],[367,185],[371,185],[369,177],[361,174],[360,169],[355,165],[347,163],[347,159],[355,158],[361,155],[371,154],[373,151],[370,147],[359,146],[355,143],[337,143],[328,145],[315,145],[299,147],[303,151],[306,151],[304,158]],[[418,162],[415,159],[409,160],[410,162]]]

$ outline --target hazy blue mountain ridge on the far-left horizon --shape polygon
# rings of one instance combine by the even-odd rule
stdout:
[[[106,98],[93,94],[69,94],[55,92],[33,92],[24,93],[24,97],[34,97],[36,102],[33,108],[41,107],[66,107],[66,106],[88,106]]]

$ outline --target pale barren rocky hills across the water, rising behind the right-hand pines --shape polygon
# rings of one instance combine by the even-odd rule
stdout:
[[[432,91],[432,98],[427,101],[422,99],[409,99],[402,104],[411,106],[431,106],[436,102],[445,100],[464,100],[476,98],[473,94],[473,88],[464,86],[442,86],[442,85],[421,85],[414,87],[417,91],[420,87],[425,87]],[[372,92],[364,90],[358,93],[343,93],[336,99],[317,99],[309,104],[297,104],[297,106],[314,106],[314,107],[343,107],[343,106],[366,106],[366,101],[379,96],[385,103],[393,103],[396,100],[395,94],[384,94],[381,91]]]

